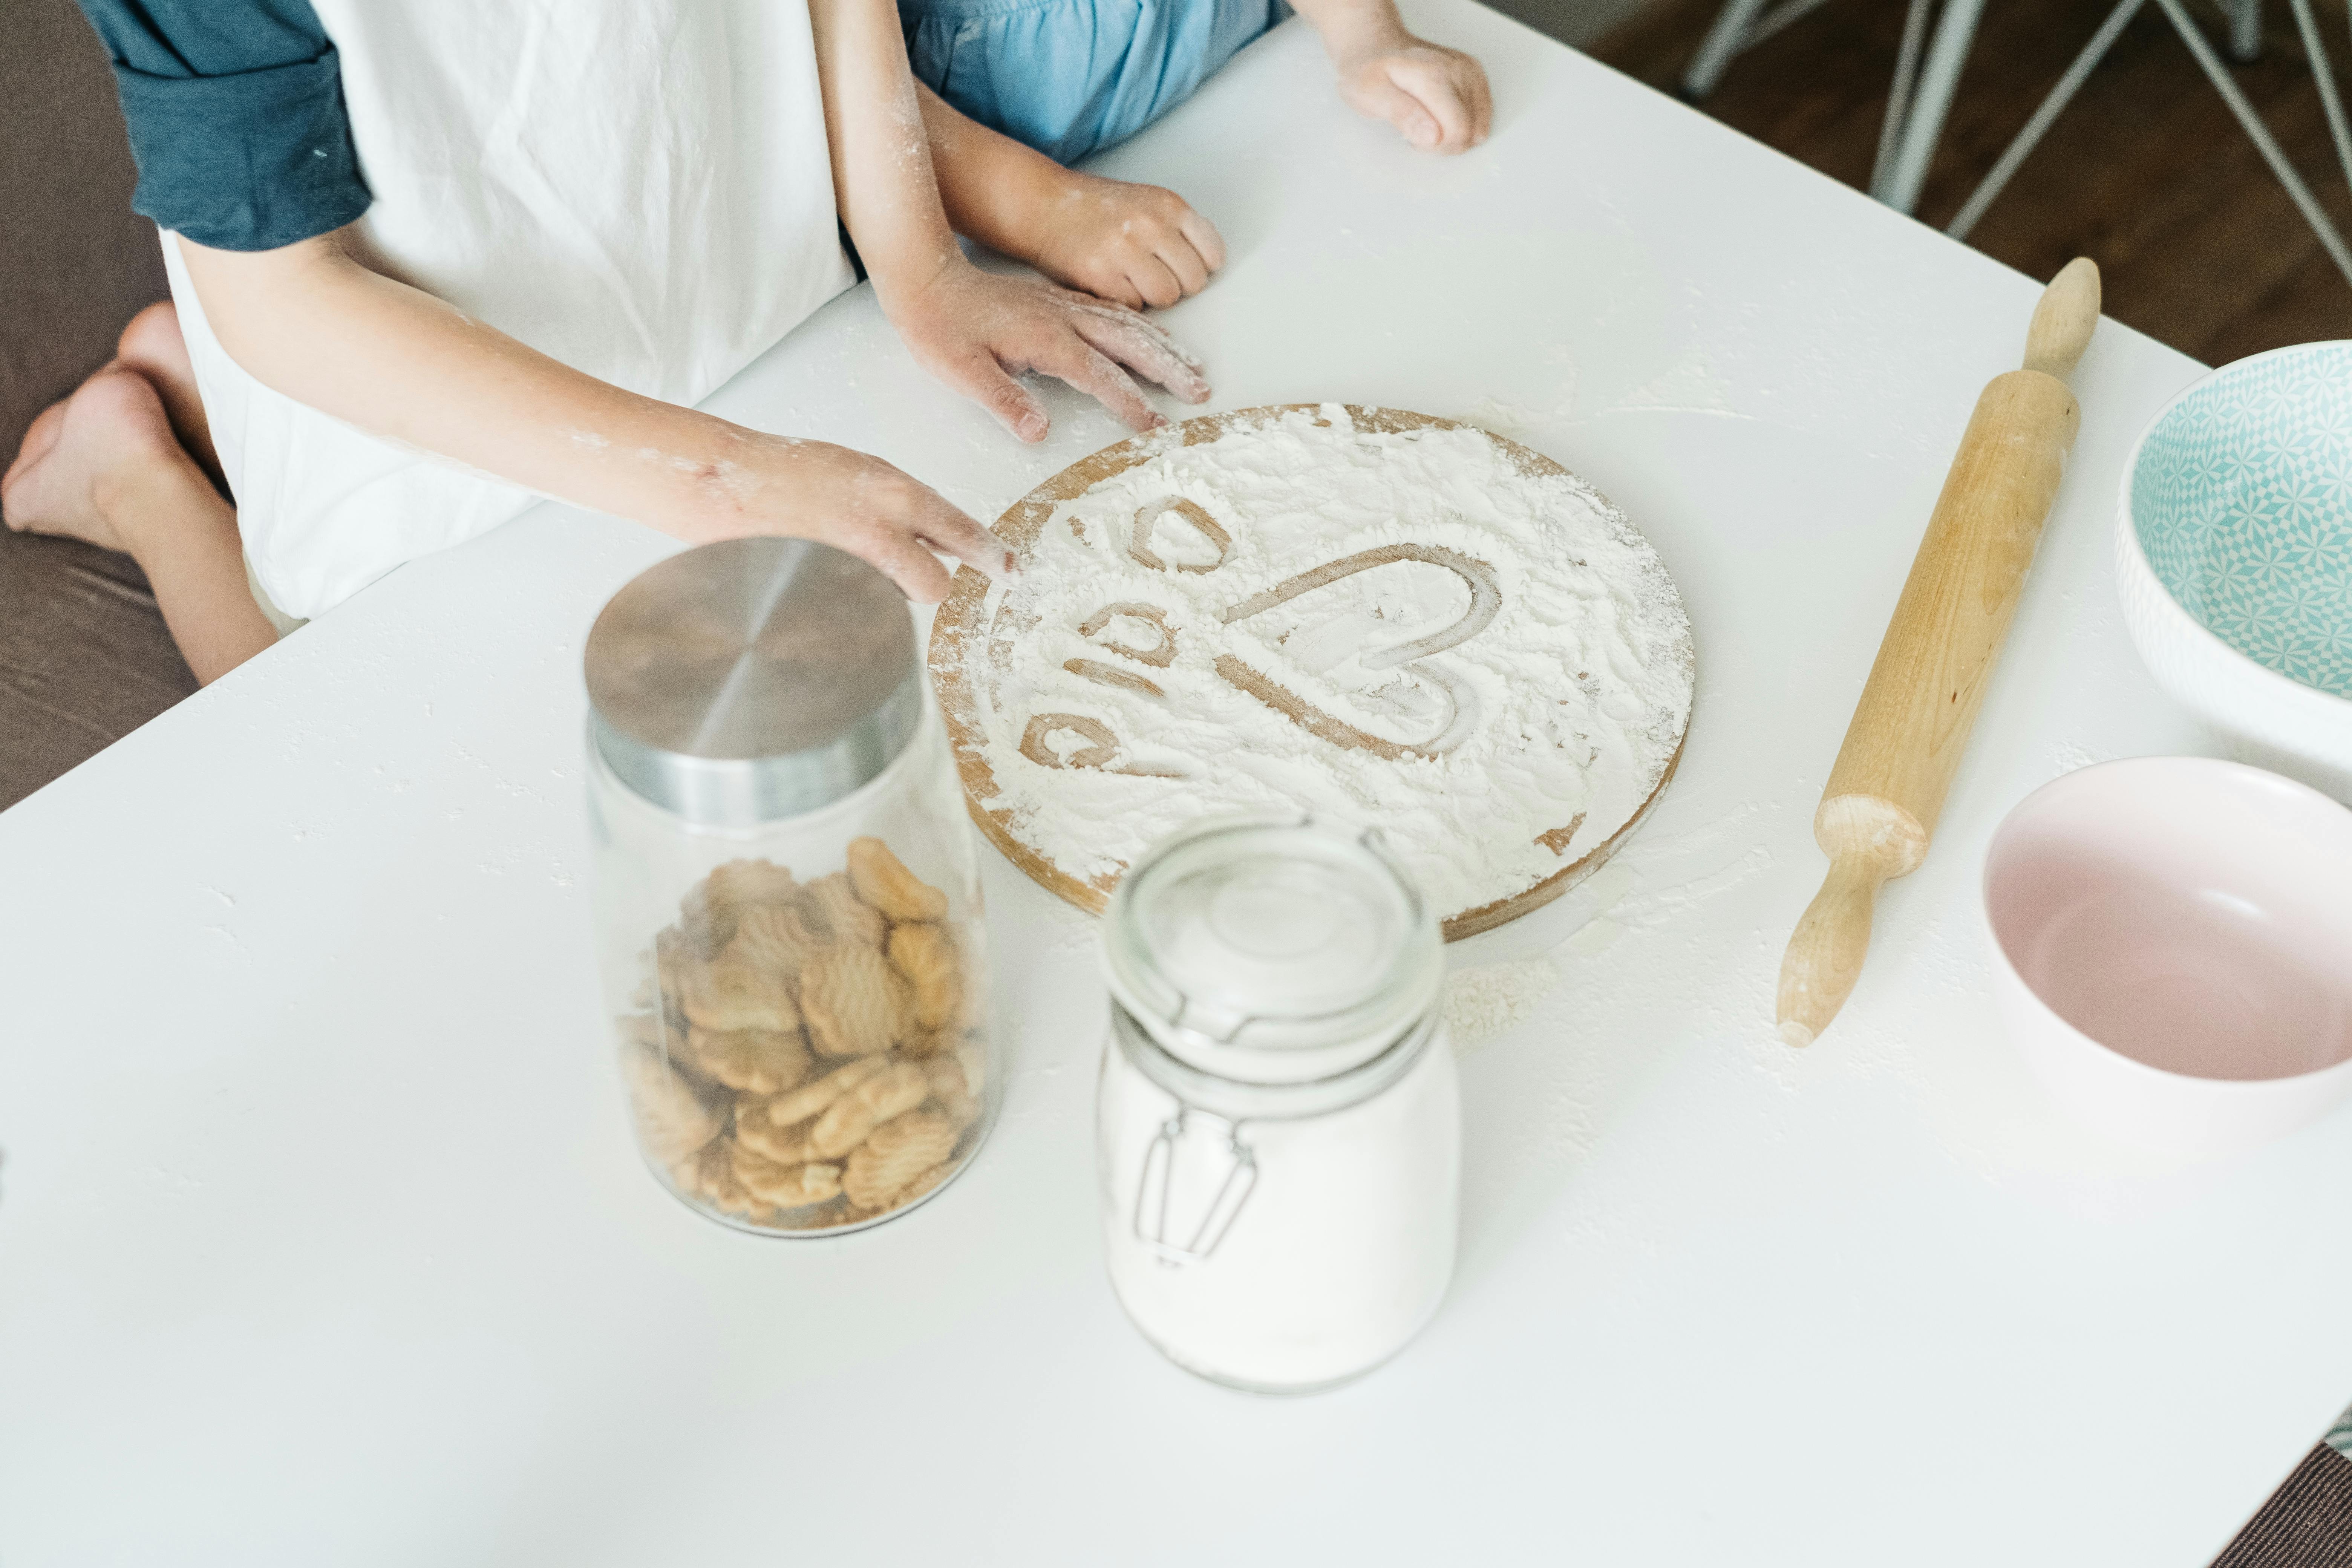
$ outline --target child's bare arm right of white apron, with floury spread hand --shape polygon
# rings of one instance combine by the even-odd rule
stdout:
[[[1185,402],[1207,402],[1197,362],[1134,310],[997,277],[964,259],[938,200],[894,0],[814,0],[809,19],[835,202],[884,315],[924,369],[1025,442],[1047,433],[1044,407],[1014,378],[1025,369],[1098,397],[1134,430],[1164,421],[1129,369]]]

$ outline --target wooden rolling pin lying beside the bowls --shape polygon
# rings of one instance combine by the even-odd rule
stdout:
[[[1780,1039],[1792,1046],[1813,1044],[1853,992],[1879,884],[1926,858],[2082,423],[2065,376],[2093,327],[2098,266],[2077,256],[2034,306],[2025,369],[1985,386],[1959,437],[1813,813],[1830,877],[1780,959]]]

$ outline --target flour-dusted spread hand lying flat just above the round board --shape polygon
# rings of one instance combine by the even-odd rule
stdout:
[[[880,275],[875,277],[880,287]],[[884,292],[882,310],[915,360],[1018,435],[1042,442],[1044,404],[1014,381],[1044,371],[1120,416],[1129,430],[1167,423],[1136,386],[1136,371],[1185,402],[1207,402],[1200,360],[1127,306],[1023,277],[983,273],[962,256],[908,292]],[[1120,369],[1127,367],[1127,369]]]

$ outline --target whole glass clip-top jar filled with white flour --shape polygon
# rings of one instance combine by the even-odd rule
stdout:
[[[1390,1359],[1454,1276],[1461,1098],[1437,919],[1376,832],[1185,830],[1103,917],[1110,1284],[1171,1361],[1303,1394]]]

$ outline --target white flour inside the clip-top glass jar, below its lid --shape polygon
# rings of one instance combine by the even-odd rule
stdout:
[[[1105,1044],[1098,1138],[1105,1260],[1120,1305],[1171,1361],[1251,1389],[1308,1392],[1388,1361],[1454,1279],[1461,1093],[1444,1027],[1369,1100],[1244,1121],[1258,1175],[1207,1258],[1164,1262],[1136,1234],[1152,1140],[1176,1100]],[[1190,1241],[1235,1166],[1192,1112],[1169,1161],[1167,1234]],[[1143,1215],[1150,1232],[1155,1213]]]

